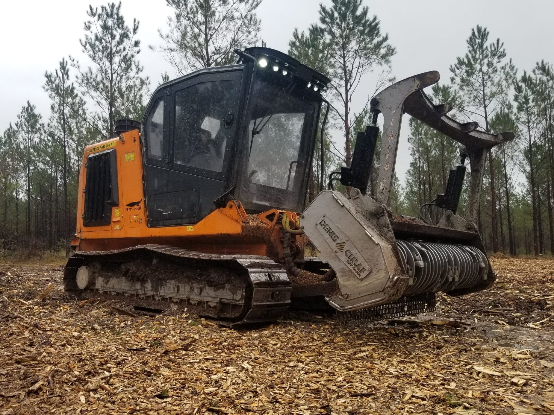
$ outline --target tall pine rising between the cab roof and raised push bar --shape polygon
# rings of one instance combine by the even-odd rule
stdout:
[[[340,110],[340,129],[345,134],[346,165],[352,158],[351,126],[356,123],[352,97],[363,75],[375,66],[389,66],[396,50],[388,44],[388,34],[381,34],[381,22],[369,17],[362,0],[332,0],[330,8],[320,4],[317,33],[324,41],[330,66],[332,93]],[[388,80],[386,80],[388,81]]]

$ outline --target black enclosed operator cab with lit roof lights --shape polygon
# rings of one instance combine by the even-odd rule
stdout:
[[[149,226],[195,224],[232,194],[247,211],[301,211],[329,82],[269,48],[161,85],[143,119]]]

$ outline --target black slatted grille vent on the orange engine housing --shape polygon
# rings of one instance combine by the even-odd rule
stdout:
[[[86,160],[84,226],[109,225],[111,207],[119,205],[115,148]]]

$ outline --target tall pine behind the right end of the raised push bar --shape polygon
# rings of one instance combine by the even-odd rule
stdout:
[[[450,66],[453,74],[450,81],[460,92],[463,105],[461,110],[469,119],[482,121],[486,132],[491,131],[491,117],[506,100],[516,73],[511,59],[505,62],[504,43],[501,43],[500,39],[490,44],[488,42],[489,31],[477,25],[471,29],[471,35],[466,41],[468,52],[464,56],[458,56],[456,63]],[[489,174],[493,251],[498,252],[492,151],[489,152]]]

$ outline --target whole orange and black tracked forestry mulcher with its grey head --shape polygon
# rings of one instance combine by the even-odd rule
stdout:
[[[512,133],[448,117],[452,106],[423,91],[438,72],[409,77],[372,98],[373,122],[358,133],[352,165],[305,207],[329,79],[273,49],[236,52],[235,65],[161,85],[142,123],[120,120],[115,137],[85,149],[66,291],[235,325],[279,319],[291,304],[370,319],[414,314],[434,309],[438,291],[490,287],[478,201],[486,153]],[[444,194],[430,202],[436,221],[394,217],[389,207],[404,113],[462,146]],[[463,217],[466,159],[473,202]],[[332,190],[334,181],[351,190]],[[307,245],[317,256],[305,255]]]

